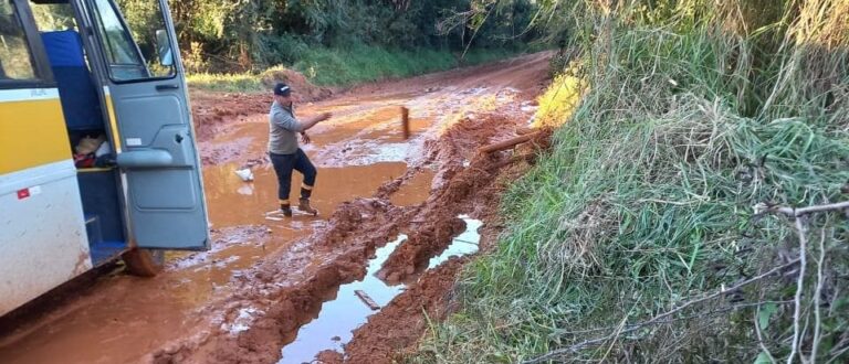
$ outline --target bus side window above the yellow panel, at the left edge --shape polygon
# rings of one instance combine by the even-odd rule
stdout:
[[[6,79],[35,79],[32,52],[11,0],[0,0],[0,82]]]

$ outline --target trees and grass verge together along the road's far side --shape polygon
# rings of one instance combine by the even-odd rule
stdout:
[[[118,0],[139,34],[149,1]],[[319,86],[349,86],[507,57],[528,50],[534,1],[170,1],[189,84],[263,90],[285,67]],[[541,42],[534,47],[544,47]],[[259,77],[258,77],[259,76]]]

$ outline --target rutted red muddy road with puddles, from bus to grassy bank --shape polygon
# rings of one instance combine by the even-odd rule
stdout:
[[[212,249],[169,254],[153,279],[102,271],[0,321],[0,363],[391,362],[423,332],[422,312],[450,309],[457,271],[499,233],[504,182],[544,147],[478,153],[527,127],[549,56],[301,104],[298,115],[334,114],[303,147],[318,168],[318,218],[265,215],[276,208],[270,97],[193,95]]]

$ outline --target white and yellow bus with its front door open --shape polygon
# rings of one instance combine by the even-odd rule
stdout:
[[[209,228],[167,0],[0,0],[0,315]],[[138,8],[138,9],[137,9]]]

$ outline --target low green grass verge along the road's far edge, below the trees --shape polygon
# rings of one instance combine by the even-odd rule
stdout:
[[[507,50],[471,50],[462,64],[443,50],[387,50],[379,46],[355,45],[349,49],[311,47],[289,67],[303,73],[318,86],[353,86],[387,78],[401,78],[447,71],[461,65],[476,65],[518,54]],[[262,92],[261,73],[191,74],[190,87],[213,92]]]

